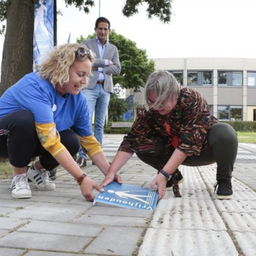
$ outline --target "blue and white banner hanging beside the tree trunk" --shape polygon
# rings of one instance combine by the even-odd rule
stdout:
[[[44,60],[54,45],[53,0],[39,0],[34,18],[34,65]]]

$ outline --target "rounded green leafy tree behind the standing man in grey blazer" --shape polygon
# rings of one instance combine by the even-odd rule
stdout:
[[[87,38],[93,38],[95,33]],[[77,42],[85,39],[82,35]],[[148,75],[155,71],[155,62],[148,60],[146,51],[139,49],[136,42],[117,34],[112,30],[109,34],[109,41],[118,48],[121,63],[121,73],[113,76],[113,83],[119,83],[123,88],[139,89],[144,87]]]

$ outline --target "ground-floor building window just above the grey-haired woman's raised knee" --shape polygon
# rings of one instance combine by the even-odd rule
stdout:
[[[242,106],[218,106],[218,118],[220,120],[242,120]]]

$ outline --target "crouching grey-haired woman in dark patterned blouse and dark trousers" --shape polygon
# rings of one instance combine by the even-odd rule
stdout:
[[[216,198],[232,197],[231,176],[238,150],[236,132],[229,124],[211,115],[203,96],[182,88],[167,71],[152,73],[145,85],[146,106],[141,109],[131,131],[124,137],[102,185],[113,181],[116,172],[134,154],[158,170],[151,187],[158,186],[159,199],[183,177],[180,164],[200,166],[217,162]]]

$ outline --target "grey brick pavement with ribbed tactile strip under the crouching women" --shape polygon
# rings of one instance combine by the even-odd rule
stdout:
[[[121,139],[104,137],[110,160]],[[256,155],[246,151],[239,154]],[[92,206],[61,168],[56,189],[33,186],[31,199],[12,199],[10,180],[1,180],[0,255],[255,255],[256,164],[244,162],[233,172],[232,200],[212,196],[215,165],[182,166],[182,198],[167,191],[156,211]],[[95,165],[86,171],[102,181]],[[148,186],[156,172],[133,157],[121,173],[124,183]]]

